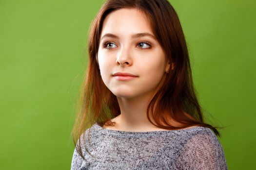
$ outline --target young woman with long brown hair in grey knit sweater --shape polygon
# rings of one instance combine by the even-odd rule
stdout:
[[[167,0],[107,0],[89,36],[71,170],[227,170]]]

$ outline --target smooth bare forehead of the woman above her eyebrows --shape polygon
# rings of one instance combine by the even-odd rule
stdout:
[[[139,9],[122,8],[107,15],[101,34],[136,34],[138,32],[153,34],[149,18]]]

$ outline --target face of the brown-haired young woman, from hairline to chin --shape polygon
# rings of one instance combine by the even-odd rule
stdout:
[[[104,84],[121,98],[153,97],[169,69],[150,22],[137,9],[119,9],[103,22],[98,64]]]

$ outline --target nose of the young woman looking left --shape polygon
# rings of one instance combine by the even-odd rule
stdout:
[[[117,53],[116,63],[120,66],[131,66],[133,64],[131,50],[122,47]]]

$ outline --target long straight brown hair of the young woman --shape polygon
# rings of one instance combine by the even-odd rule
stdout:
[[[120,114],[117,97],[101,79],[97,53],[105,17],[121,8],[137,8],[148,16],[154,35],[166,57],[175,66],[167,74],[165,83],[148,105],[149,121],[166,130],[182,129],[194,125],[208,127],[220,136],[216,127],[203,120],[202,109],[193,85],[186,40],[177,13],[168,0],[107,0],[95,17],[89,35],[87,74],[82,85],[81,100],[72,131],[79,154],[83,157],[79,137],[86,129],[94,123],[101,126],[104,124],[113,126],[114,122],[110,119]],[[153,118],[156,124],[150,118]],[[171,124],[170,119],[174,119],[181,126]]]

